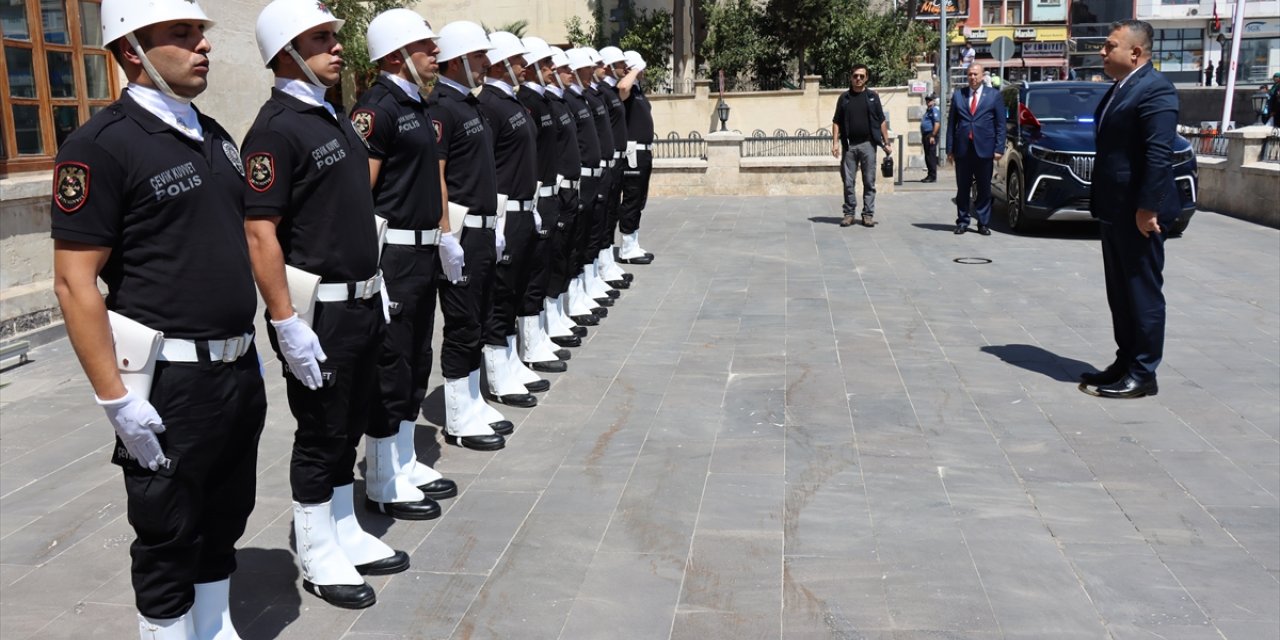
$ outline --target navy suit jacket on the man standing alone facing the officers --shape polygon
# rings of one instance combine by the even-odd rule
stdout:
[[[1133,223],[1134,214],[1147,209],[1161,224],[1171,223],[1181,211],[1172,163],[1178,91],[1151,63],[1135,69],[1119,91],[1116,86],[1093,114],[1097,157],[1089,211],[1100,220]]]

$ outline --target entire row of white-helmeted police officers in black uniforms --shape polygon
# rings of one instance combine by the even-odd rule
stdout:
[[[445,439],[494,451],[513,426],[490,401],[535,406],[539,374],[564,371],[630,287],[618,262],[653,260],[645,63],[393,9],[369,24],[379,76],[347,115],[325,101],[343,20],[275,0],[256,27],[274,87],[237,146],[192,106],[211,49],[198,4],[104,0],[101,22],[129,82],[59,150],[55,288],[118,436],[141,637],[239,637],[229,576],[266,413],[255,284],[297,421],[303,586],[369,607],[364,576],[408,556],[356,520],[361,436],[370,508],[428,520],[457,494],[415,453],[436,300]],[[163,333],[151,356],[119,319]]]

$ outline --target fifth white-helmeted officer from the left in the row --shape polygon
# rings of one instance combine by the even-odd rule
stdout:
[[[538,133],[529,109],[516,99],[529,52],[520,38],[506,31],[489,35],[489,70],[480,90],[480,113],[492,125],[499,202],[498,223],[506,251],[494,268],[493,305],[484,319],[481,352],[489,393],[504,404],[532,407],[538,398],[525,383],[547,390],[550,383],[530,371],[516,353],[516,311],[529,288],[534,243],[541,227],[538,197]]]

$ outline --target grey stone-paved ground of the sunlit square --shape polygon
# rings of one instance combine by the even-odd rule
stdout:
[[[835,189],[833,189],[835,191]],[[1088,225],[950,233],[942,189],[663,198],[636,287],[509,447],[420,451],[462,494],[365,517],[412,553],[379,603],[300,593],[278,365],[233,581],[252,639],[1275,639],[1280,233],[1169,244],[1156,398],[1110,361]],[[988,265],[959,265],[977,256]],[[0,636],[134,636],[109,426],[65,340],[3,374]],[[439,384],[433,378],[433,384]]]

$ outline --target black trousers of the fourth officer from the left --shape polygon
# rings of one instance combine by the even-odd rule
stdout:
[[[463,228],[462,280],[453,284],[440,274],[440,314],[444,333],[440,344],[440,374],[457,380],[480,369],[480,330],[493,306],[497,251],[493,229]]]

